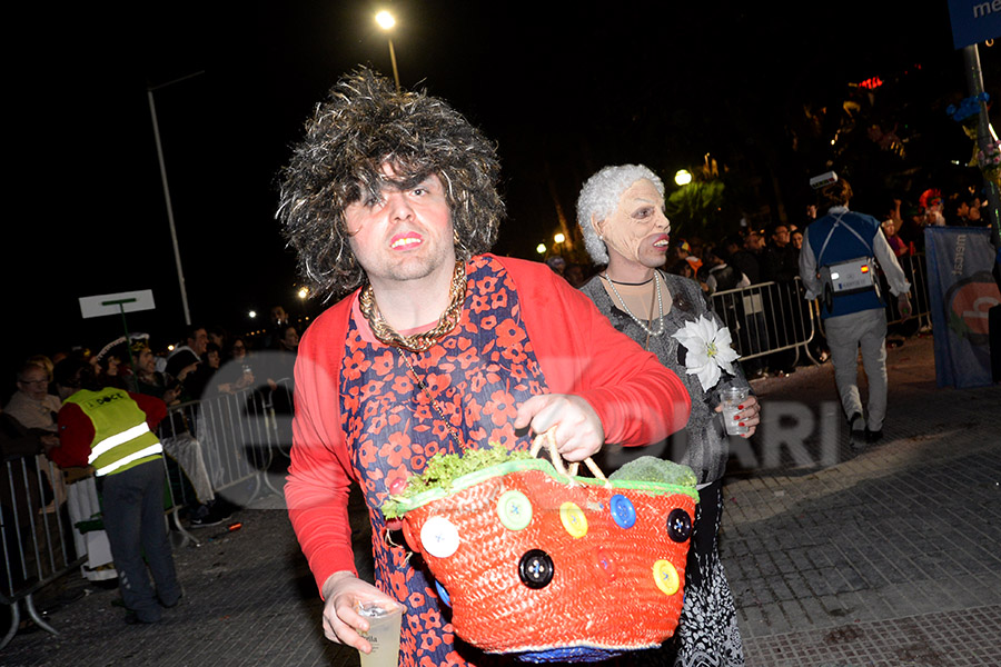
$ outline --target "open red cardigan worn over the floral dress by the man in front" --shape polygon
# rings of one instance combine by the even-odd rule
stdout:
[[[489,256],[493,257],[493,256]],[[587,400],[607,442],[648,445],[685,427],[691,399],[674,372],[620,334],[591,300],[546,265],[506,257],[522,320],[553,394]],[[347,505],[357,479],[341,429],[339,372],[358,292],[318,317],[296,361],[291,465],[285,487],[289,518],[317,586],[336,571],[356,573]],[[363,337],[375,340],[364,318]]]

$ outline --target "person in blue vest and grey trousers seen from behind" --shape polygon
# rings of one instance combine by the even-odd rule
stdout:
[[[911,289],[880,221],[849,210],[852,188],[844,179],[817,190],[817,208],[827,215],[810,223],[800,251],[800,278],[806,299],[821,298],[834,382],[849,421],[853,448],[883,437],[886,416],[886,305],[880,293],[879,270],[899,300],[900,312],[911,312]],[[869,380],[868,410],[859,394],[858,358]]]

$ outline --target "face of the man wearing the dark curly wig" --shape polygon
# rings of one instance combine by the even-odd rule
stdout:
[[[383,173],[395,177],[388,163]],[[378,199],[363,192],[363,199],[348,205],[344,216],[351,250],[376,289],[436,272],[452,275],[452,210],[436,175],[418,183],[387,182]]]

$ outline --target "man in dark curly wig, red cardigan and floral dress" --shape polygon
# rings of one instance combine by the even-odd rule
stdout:
[[[582,460],[606,440],[657,441],[688,416],[677,376],[565,280],[486,252],[504,211],[498,170],[448,104],[361,69],[317,107],[283,173],[278,217],[301,275],[326,299],[353,290],[299,345],[289,516],[326,636],[368,653],[357,605],[402,605],[400,665],[486,659],[454,640],[422,560],[387,539],[399,525],[383,504],[432,456],[526,449],[552,430],[561,455]],[[351,551],[353,480],[375,586]]]

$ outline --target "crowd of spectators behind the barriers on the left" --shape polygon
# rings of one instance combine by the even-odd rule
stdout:
[[[248,400],[267,400],[277,410],[290,411],[290,380],[299,330],[280,307],[274,309],[271,325],[256,337],[229,335],[222,327],[194,325],[176,340],[132,334],[102,348],[76,346],[21,360],[14,377],[10,378],[13,386],[4,388],[9,399],[0,410],[4,432],[12,434],[11,438],[4,438],[4,460],[24,456],[23,440],[29,442],[28,454],[39,457],[32,466],[48,468],[44,457],[59,445],[59,410],[62,401],[76,391],[72,386],[58,384],[59,371],[80,365],[90,367],[102,386],[153,396],[168,408],[245,392]],[[184,472],[185,485],[194,491],[195,499],[185,509],[189,526],[215,526],[227,520],[232,508],[217,501],[198,434],[192,430],[185,417],[175,411],[161,424],[160,440]],[[13,442],[13,435],[18,437],[17,448],[7,446],[8,440]],[[86,475],[58,471],[70,477],[81,474]],[[63,479],[46,480],[53,487],[65,484]]]

